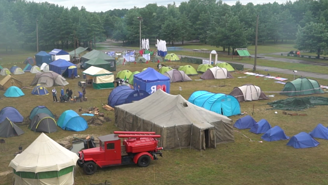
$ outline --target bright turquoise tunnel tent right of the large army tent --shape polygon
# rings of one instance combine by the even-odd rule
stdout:
[[[240,114],[238,100],[231,95],[215,94],[207,91],[195,91],[188,101],[207,110],[224,116]]]

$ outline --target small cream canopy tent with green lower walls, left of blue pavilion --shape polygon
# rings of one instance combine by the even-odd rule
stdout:
[[[106,69],[91,66],[83,74],[87,75],[86,80],[92,80],[95,89],[114,88],[114,74]]]

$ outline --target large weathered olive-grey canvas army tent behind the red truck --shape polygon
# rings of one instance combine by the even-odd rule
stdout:
[[[164,149],[215,148],[233,142],[232,120],[162,90],[115,107],[115,125],[126,131],[154,131]]]

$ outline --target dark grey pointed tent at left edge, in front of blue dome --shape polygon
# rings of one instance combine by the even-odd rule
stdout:
[[[13,137],[22,134],[24,134],[24,131],[12,123],[8,118],[0,123],[0,137]]]

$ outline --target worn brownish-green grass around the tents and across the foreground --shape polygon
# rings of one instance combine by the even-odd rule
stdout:
[[[26,56],[20,56],[26,58]],[[19,61],[18,57],[17,60]],[[18,64],[24,67],[22,64]],[[141,71],[145,67],[156,68],[157,63],[149,64],[127,64],[125,66],[118,66],[117,71],[122,69],[129,69],[131,71]],[[166,62],[165,65],[186,65],[180,62]],[[196,65],[191,64],[194,67]],[[116,73],[116,72],[114,72]],[[261,72],[265,74],[266,72]],[[293,79],[292,75],[274,74],[272,76],[279,76]],[[81,71],[79,71],[81,75]],[[264,80],[264,78],[256,78],[254,76],[247,76],[247,78],[237,78],[245,76],[244,74],[233,74],[234,79],[227,80],[207,80],[207,81],[189,81],[171,84],[171,94],[179,94],[179,86],[182,87],[181,95],[188,99],[189,96],[197,90],[206,90],[215,93],[230,93],[234,87],[246,83],[253,83],[261,87],[262,91],[279,91],[283,88],[282,84],[274,83],[275,80]],[[30,87],[30,83],[34,78],[31,73],[23,75],[15,75],[15,78],[22,81],[24,86]],[[0,80],[3,79],[0,76]],[[193,80],[199,77],[192,77]],[[73,89],[73,96],[80,91],[78,87],[78,79],[67,79],[70,83],[67,87]],[[320,84],[328,84],[328,80],[317,79]],[[219,85],[225,84],[224,87]],[[65,88],[67,88],[65,87]],[[60,87],[56,87],[57,91]],[[48,88],[50,91],[51,88]],[[33,107],[37,105],[46,105],[54,114],[60,115],[63,111],[72,109],[77,111],[78,107],[86,109],[90,106],[101,107],[102,104],[107,103],[107,97],[111,90],[94,90],[91,87],[86,89],[87,102],[82,103],[54,103],[51,95],[37,97],[31,95],[31,89],[23,89],[25,96],[19,98],[5,98],[4,91],[0,91],[0,108],[5,106],[14,106],[20,113],[27,117]],[[271,95],[274,93],[266,93]],[[325,96],[327,94],[315,95]],[[285,99],[287,97],[276,94],[274,98],[266,101],[254,101],[240,103],[241,111],[245,114],[252,115],[254,105],[254,115],[256,121],[260,119],[267,119],[274,127],[276,125],[282,127],[288,136],[293,136],[301,131],[310,132],[318,123],[326,124],[326,112],[328,106],[317,106],[310,108],[302,113],[308,116],[287,116],[283,115],[282,111],[267,110],[270,108],[266,103]],[[142,107],[141,107],[142,108]],[[105,111],[105,116],[114,120],[113,112]],[[292,112],[292,111],[288,111]],[[231,119],[235,122],[241,116],[232,116]],[[84,117],[89,119],[90,117]],[[29,130],[26,126],[20,126],[25,134],[21,136],[3,138],[6,139],[6,152],[0,155],[0,163],[3,164],[1,172],[10,171],[8,167],[9,162],[13,159],[14,152],[18,151],[18,146],[22,144],[23,150],[29,146],[33,140],[39,136],[40,133],[35,133]],[[97,134],[105,135],[113,133],[118,130],[114,126],[114,121],[105,123],[103,126],[90,126],[86,131],[79,132],[81,134]],[[248,130],[241,130],[246,136],[252,140],[260,141],[261,134],[253,134]],[[66,136],[75,134],[76,132],[64,131],[58,128],[57,132],[47,134],[54,140],[61,139]],[[87,176],[84,175],[81,168],[77,168],[75,182],[78,185],[101,183],[106,179],[111,181],[113,185],[215,185],[215,184],[236,184],[236,185],[254,185],[254,184],[270,184],[270,185],[324,185],[328,184],[326,168],[326,154],[328,152],[328,141],[320,140],[320,145],[316,148],[310,149],[294,149],[287,147],[287,141],[277,142],[250,142],[241,133],[235,132],[235,142],[228,144],[217,145],[216,149],[207,149],[200,151],[183,149],[163,151],[163,158],[153,161],[151,166],[147,168],[139,168],[136,165],[112,167],[106,169],[99,169],[97,173]],[[153,167],[154,165],[154,167]],[[0,176],[0,184],[10,184],[12,182],[12,174]],[[155,178],[155,180],[154,180]]]

